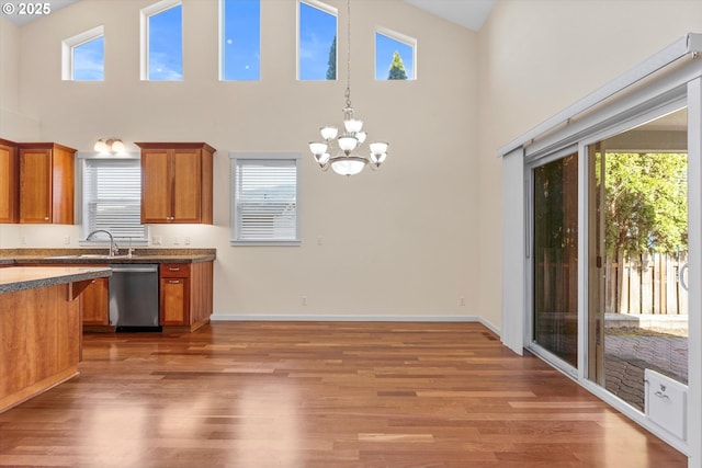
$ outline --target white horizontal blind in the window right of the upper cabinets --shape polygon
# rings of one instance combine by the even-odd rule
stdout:
[[[297,159],[234,159],[233,243],[299,243]]]

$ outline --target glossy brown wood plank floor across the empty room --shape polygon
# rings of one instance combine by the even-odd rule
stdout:
[[[0,465],[687,467],[478,323],[88,334],[80,372],[0,414]]]

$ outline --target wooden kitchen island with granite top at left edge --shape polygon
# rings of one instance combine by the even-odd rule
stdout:
[[[0,412],[78,375],[77,298],[109,267],[0,269]]]

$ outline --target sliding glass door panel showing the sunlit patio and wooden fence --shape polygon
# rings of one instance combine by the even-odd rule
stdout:
[[[687,110],[587,146],[588,378],[644,411],[646,369],[688,384]]]

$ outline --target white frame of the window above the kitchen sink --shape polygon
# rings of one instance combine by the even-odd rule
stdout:
[[[95,240],[87,240],[86,238],[88,237],[88,235],[90,233],[90,229],[89,226],[90,224],[88,222],[88,209],[86,209],[86,205],[87,205],[87,201],[86,201],[86,195],[87,195],[87,187],[84,186],[84,176],[86,176],[86,161],[87,160],[135,160],[137,162],[139,162],[141,159],[141,155],[139,152],[125,152],[125,153],[121,153],[118,157],[115,157],[113,155],[100,155],[100,153],[94,153],[94,152],[77,152],[76,153],[76,165],[77,165],[77,171],[76,171],[76,212],[78,214],[78,217],[80,218],[80,231],[81,231],[81,239],[79,239],[78,244],[81,247],[95,247],[95,246],[107,246],[107,242],[104,239],[98,238]],[[139,167],[139,171],[141,171],[141,164],[138,164]],[[141,196],[141,192],[139,191],[139,203],[140,203],[140,196]],[[139,214],[140,216],[140,214]],[[141,224],[140,219],[139,219],[139,224],[141,226],[144,226],[144,238],[131,238],[131,246],[148,246],[149,243],[149,225],[147,224]],[[107,229],[109,230],[109,229]],[[112,231],[111,231],[112,232]],[[124,239],[127,239],[125,237],[117,237],[115,236],[115,241],[116,240],[121,240],[121,242],[117,242],[117,244],[120,244],[120,248],[124,249],[127,246],[124,246]]]

